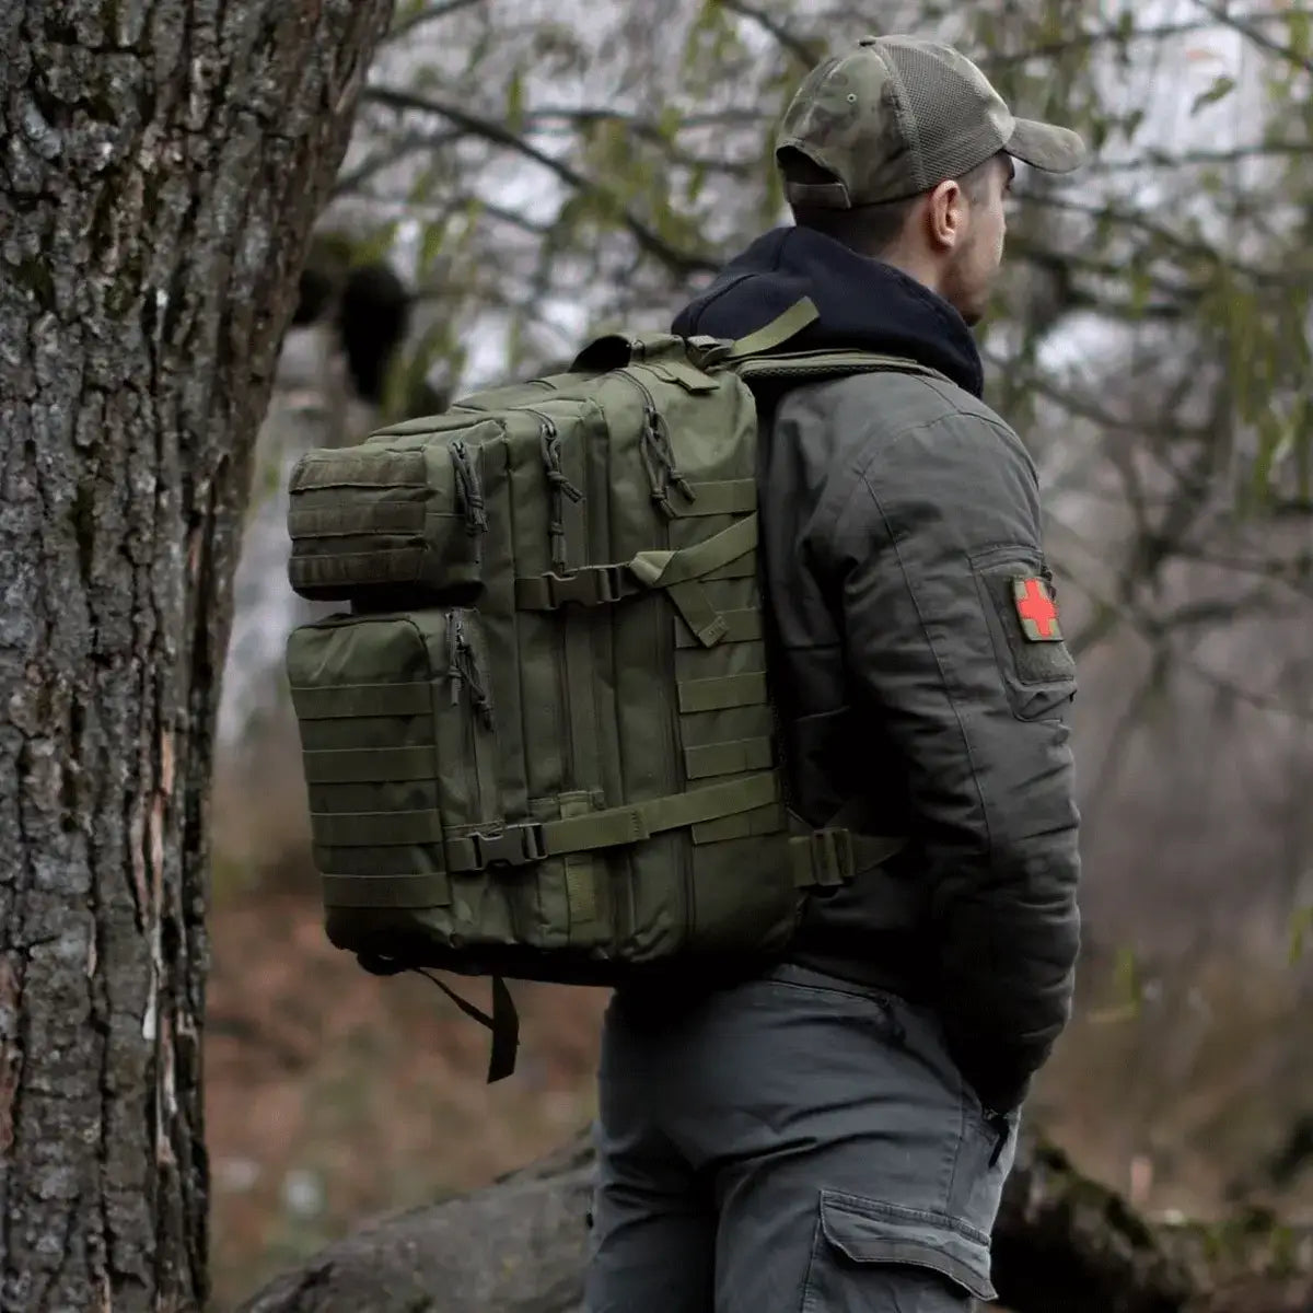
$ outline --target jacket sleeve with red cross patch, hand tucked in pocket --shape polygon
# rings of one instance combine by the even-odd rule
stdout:
[[[850,695],[907,784],[949,1048],[1010,1111],[1069,1019],[1079,947],[1075,670],[1035,469],[1011,431],[957,412],[868,442],[844,484],[825,572]]]

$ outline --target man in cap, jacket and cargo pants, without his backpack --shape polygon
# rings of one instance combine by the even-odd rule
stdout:
[[[1018,1109],[1070,1010],[1079,860],[1036,474],[981,400],[968,326],[1012,159],[1082,155],[956,51],[867,38],[784,119],[796,226],[675,323],[737,339],[810,297],[819,319],[783,349],[923,366],[792,387],[765,407],[759,477],[790,806],[909,843],[813,895],[759,978],[616,997],[590,1313],[994,1297]]]

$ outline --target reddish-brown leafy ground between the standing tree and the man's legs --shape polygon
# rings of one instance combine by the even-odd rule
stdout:
[[[596,991],[517,987],[519,1070],[488,1087],[487,1032],[428,981],[368,976],[303,894],[236,899],[213,936],[217,1310],[353,1221],[482,1184],[592,1115]]]

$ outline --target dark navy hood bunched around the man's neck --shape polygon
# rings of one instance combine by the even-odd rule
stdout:
[[[684,337],[743,337],[810,297],[819,319],[785,351],[860,348],[907,356],[976,397],[983,370],[976,339],[943,297],[901,269],[810,228],[775,228],[731,260],[675,318]]]

